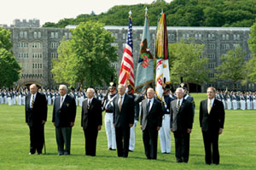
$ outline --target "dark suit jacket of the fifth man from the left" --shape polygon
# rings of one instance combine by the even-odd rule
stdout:
[[[148,126],[150,129],[162,126],[162,106],[159,100],[154,99],[153,105],[148,112],[148,99],[143,99],[142,102],[142,115],[141,115],[141,125],[143,125],[143,130]]]

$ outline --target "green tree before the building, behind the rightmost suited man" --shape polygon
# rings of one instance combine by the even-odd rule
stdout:
[[[215,69],[216,79],[233,82],[233,88],[236,88],[236,82],[244,80],[246,76],[245,53],[238,46],[222,55],[221,61]]]

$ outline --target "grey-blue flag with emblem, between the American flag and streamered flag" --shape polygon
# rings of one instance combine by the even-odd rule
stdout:
[[[147,8],[146,8],[147,13]],[[142,93],[145,88],[154,82],[154,59],[150,53],[150,32],[148,26],[148,15],[145,14],[143,37],[140,44],[140,56],[137,63],[135,89],[137,93]]]

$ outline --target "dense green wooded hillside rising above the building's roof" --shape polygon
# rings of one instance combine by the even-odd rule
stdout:
[[[236,26],[249,27],[256,18],[254,0],[173,0],[166,3],[157,0],[151,4],[117,5],[107,12],[79,14],[74,19],[62,19],[58,23],[47,22],[44,27],[65,27],[79,25],[89,20],[99,21],[107,26],[125,26],[128,13],[132,12],[133,26],[143,26],[144,8],[148,8],[148,20],[156,26],[158,15],[164,11],[168,26]]]

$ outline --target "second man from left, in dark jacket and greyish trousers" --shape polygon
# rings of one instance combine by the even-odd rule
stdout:
[[[67,95],[67,86],[60,85],[60,96],[55,99],[52,122],[55,126],[58,155],[70,155],[71,133],[76,117],[75,99]],[[65,149],[64,149],[65,145]]]

